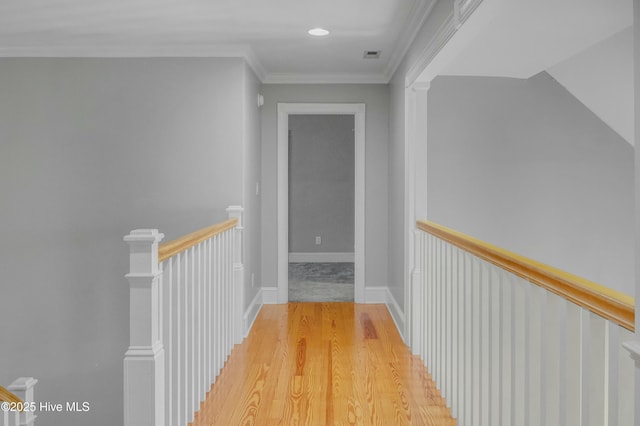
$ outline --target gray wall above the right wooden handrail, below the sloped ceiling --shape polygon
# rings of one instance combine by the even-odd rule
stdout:
[[[541,73],[438,77],[428,217],[633,294],[633,148]]]

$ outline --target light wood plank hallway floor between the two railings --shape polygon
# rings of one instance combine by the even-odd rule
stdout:
[[[384,305],[265,305],[194,426],[455,425]]]

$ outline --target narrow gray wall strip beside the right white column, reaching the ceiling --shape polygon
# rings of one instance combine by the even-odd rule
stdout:
[[[453,10],[453,1],[439,0],[418,31],[390,81],[389,106],[389,288],[404,310],[405,283],[405,77]],[[409,254],[412,255],[412,254]]]

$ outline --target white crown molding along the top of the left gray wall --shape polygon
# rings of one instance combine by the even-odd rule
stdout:
[[[166,44],[104,46],[16,46],[0,47],[3,58],[242,58],[264,81],[266,71],[248,44]]]

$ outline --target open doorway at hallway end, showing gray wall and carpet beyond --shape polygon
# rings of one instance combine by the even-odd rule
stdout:
[[[289,117],[289,301],[353,302],[355,118]]]

